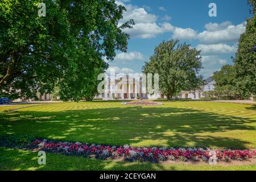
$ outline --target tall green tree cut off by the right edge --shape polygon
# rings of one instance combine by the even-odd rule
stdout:
[[[239,40],[238,51],[234,58],[237,88],[243,97],[256,94],[256,1],[249,0],[253,18],[247,18],[246,30]]]

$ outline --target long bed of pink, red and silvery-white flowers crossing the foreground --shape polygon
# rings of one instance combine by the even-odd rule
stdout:
[[[95,144],[82,144],[79,142],[53,142],[48,140],[35,140],[30,148],[38,148],[65,155],[81,155],[99,159],[124,157],[127,160],[157,161],[157,160],[204,160],[208,162],[212,151],[205,148],[134,148],[125,146],[102,146]],[[226,150],[214,151],[218,160],[246,160],[256,157],[256,150]]]

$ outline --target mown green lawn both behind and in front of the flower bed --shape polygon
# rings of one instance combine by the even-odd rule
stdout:
[[[255,129],[255,106],[208,101],[172,101],[159,106],[127,106],[120,101],[63,102],[0,112],[0,135],[31,134],[95,144],[251,149],[256,148]],[[28,151],[1,148],[0,152],[0,169],[32,169],[36,158]],[[14,153],[17,155],[12,158]],[[142,165],[48,155],[65,158],[64,163],[74,161],[63,169],[209,169],[208,165]],[[23,160],[26,162],[21,164]],[[80,160],[85,164],[79,164]],[[54,163],[38,169],[60,168]]]

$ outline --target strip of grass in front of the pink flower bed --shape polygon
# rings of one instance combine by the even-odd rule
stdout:
[[[78,156],[46,154],[46,165],[38,164],[36,152],[0,147],[0,170],[256,170],[256,165],[210,166],[113,162]]]

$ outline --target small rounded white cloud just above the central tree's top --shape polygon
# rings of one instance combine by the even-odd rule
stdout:
[[[196,38],[196,31],[191,28],[174,28],[172,38],[179,40],[191,40]]]

